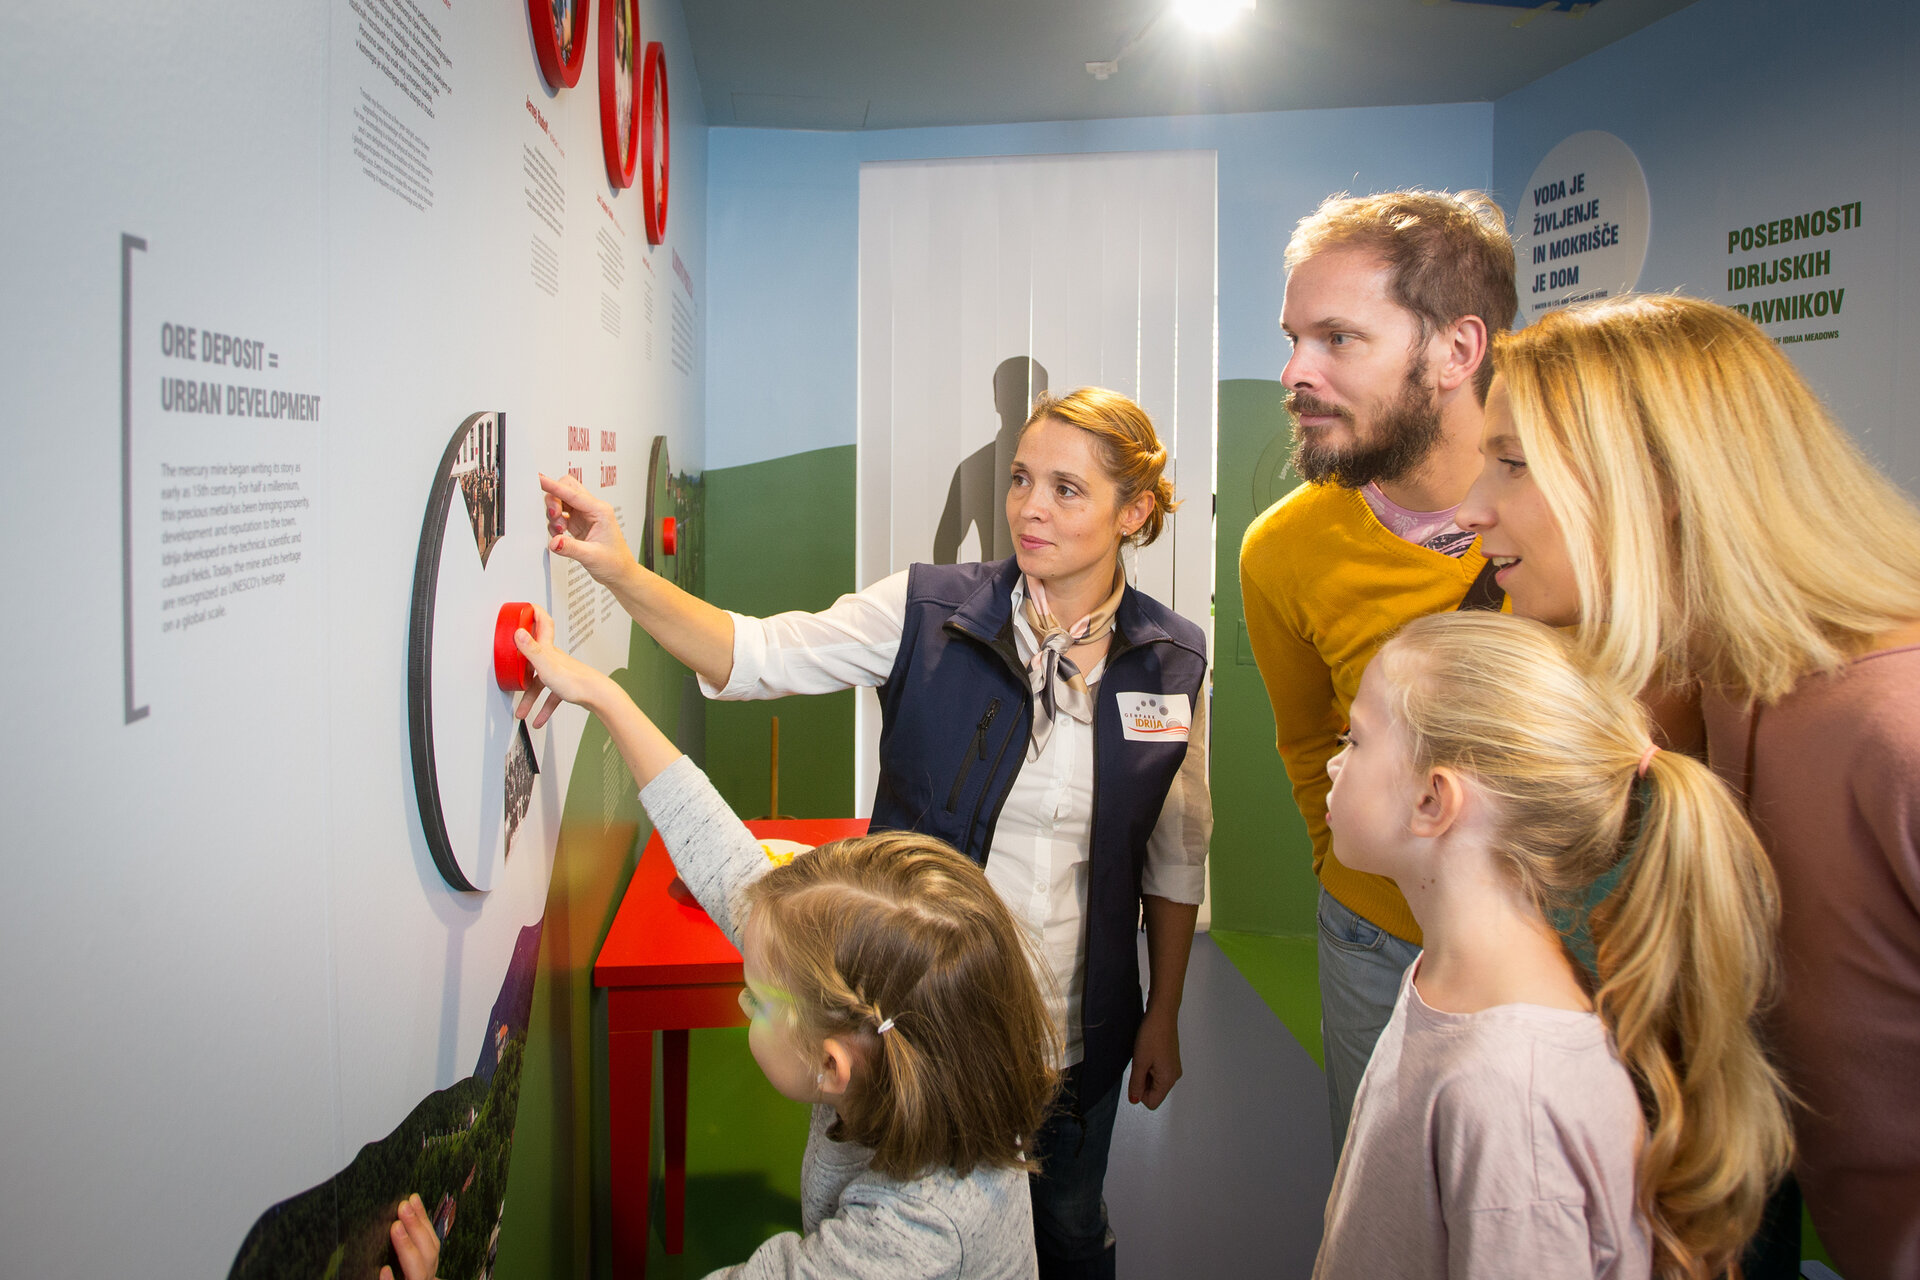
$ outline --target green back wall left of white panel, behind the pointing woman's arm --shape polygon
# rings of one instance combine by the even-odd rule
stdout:
[[[854,591],[854,447],[707,472],[707,599],[741,614],[818,610]],[[707,773],[741,818],[768,812],[768,722],[780,716],[780,808],[852,814],[852,691],[707,702]]]

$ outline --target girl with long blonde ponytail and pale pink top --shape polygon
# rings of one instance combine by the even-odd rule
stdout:
[[[1334,852],[1427,946],[1315,1274],[1722,1274],[1789,1151],[1751,1025],[1774,879],[1726,789],[1565,637],[1484,612],[1386,643],[1331,773]]]

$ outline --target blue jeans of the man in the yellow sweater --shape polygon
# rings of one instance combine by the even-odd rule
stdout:
[[[1327,1105],[1334,1159],[1346,1148],[1354,1094],[1367,1075],[1373,1044],[1400,1000],[1400,979],[1421,948],[1369,923],[1321,889],[1321,1042],[1327,1048]]]

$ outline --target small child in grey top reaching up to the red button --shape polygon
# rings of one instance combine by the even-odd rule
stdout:
[[[803,1234],[724,1274],[1035,1276],[1027,1174],[1058,1048],[1023,935],[985,873],[910,831],[772,867],[634,700],[553,647],[545,612],[516,641],[538,679],[515,714],[540,727],[568,700],[607,725],[680,877],[741,948],[755,1061],[814,1105]]]

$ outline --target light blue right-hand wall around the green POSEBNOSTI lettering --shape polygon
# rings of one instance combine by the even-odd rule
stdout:
[[[1880,464],[1920,487],[1916,73],[1920,10],[1905,0],[1699,0],[1494,104],[1494,182],[1517,201],[1565,136],[1622,138],[1653,203],[1642,290],[1784,294],[1728,294],[1726,269],[1832,249],[1822,284],[1847,290],[1841,336],[1789,351]],[[1728,253],[1730,228],[1843,200],[1864,205],[1859,232]],[[1768,332],[1811,328],[1820,324]]]

